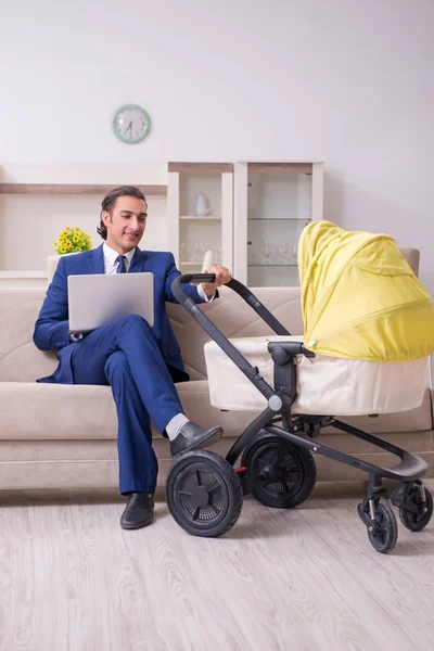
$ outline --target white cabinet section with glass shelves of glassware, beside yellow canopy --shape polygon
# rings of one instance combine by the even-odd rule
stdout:
[[[298,285],[299,235],[322,218],[322,163],[235,163],[234,277],[251,288]]]

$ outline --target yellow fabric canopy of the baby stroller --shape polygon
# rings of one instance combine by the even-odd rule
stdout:
[[[408,361],[434,352],[434,309],[393,238],[306,226],[298,243],[304,344],[319,355]]]

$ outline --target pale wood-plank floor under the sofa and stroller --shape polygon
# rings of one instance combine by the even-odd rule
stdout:
[[[294,511],[248,498],[220,539],[188,536],[163,495],[152,526],[124,532],[113,493],[2,493],[0,649],[433,649],[434,522],[379,554],[339,489]]]

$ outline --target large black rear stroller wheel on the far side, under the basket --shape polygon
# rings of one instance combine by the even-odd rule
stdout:
[[[267,432],[252,441],[241,463],[247,468],[255,499],[277,509],[292,509],[306,501],[317,478],[309,450]]]

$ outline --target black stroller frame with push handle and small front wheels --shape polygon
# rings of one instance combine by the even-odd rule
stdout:
[[[174,281],[173,292],[179,303],[268,400],[266,409],[244,430],[227,454],[227,463],[234,468],[243,450],[255,438],[260,437],[261,432],[266,432],[268,435],[279,437],[282,442],[282,450],[288,445],[295,446],[298,449],[309,450],[307,454],[315,452],[322,455],[369,474],[367,493],[365,499],[358,506],[358,513],[368,528],[368,536],[372,546],[378,551],[386,553],[393,549],[396,542],[397,528],[391,508],[392,505],[399,508],[401,522],[407,528],[421,531],[421,528],[426,526],[431,519],[433,505],[430,492],[422,485],[421,476],[427,472],[427,463],[417,455],[410,454],[396,445],[354,427],[334,417],[292,414],[291,407],[296,399],[296,356],[305,355],[306,357],[315,357],[315,353],[305,348],[302,342],[269,342],[268,349],[275,363],[275,388],[272,388],[260,375],[258,369],[253,367],[243,357],[182,289],[182,284],[184,283],[213,282],[214,279],[214,275],[181,275]],[[282,336],[291,335],[278,319],[241,282],[232,279],[226,286],[237,292],[276,334]],[[375,414],[371,416],[374,417]],[[327,426],[333,426],[387,452],[392,452],[398,457],[399,462],[393,468],[382,468],[323,446],[316,439],[321,430]],[[207,452],[207,455],[210,454]],[[279,449],[277,454],[280,454]],[[193,455],[197,455],[197,452],[193,452]],[[176,460],[171,472],[176,474]],[[277,463],[263,463],[261,471],[256,476],[251,476],[248,469],[244,467],[238,468],[235,472],[241,481],[244,495],[252,492],[255,482],[269,485],[279,481]],[[386,486],[383,486],[383,478],[398,482],[398,486],[394,489],[388,489]],[[380,500],[386,500],[386,505],[380,503]],[[179,518],[178,523],[182,526]],[[201,529],[197,532],[192,531],[191,526],[188,531],[193,535],[209,535]],[[217,535],[221,534],[217,533]]]

